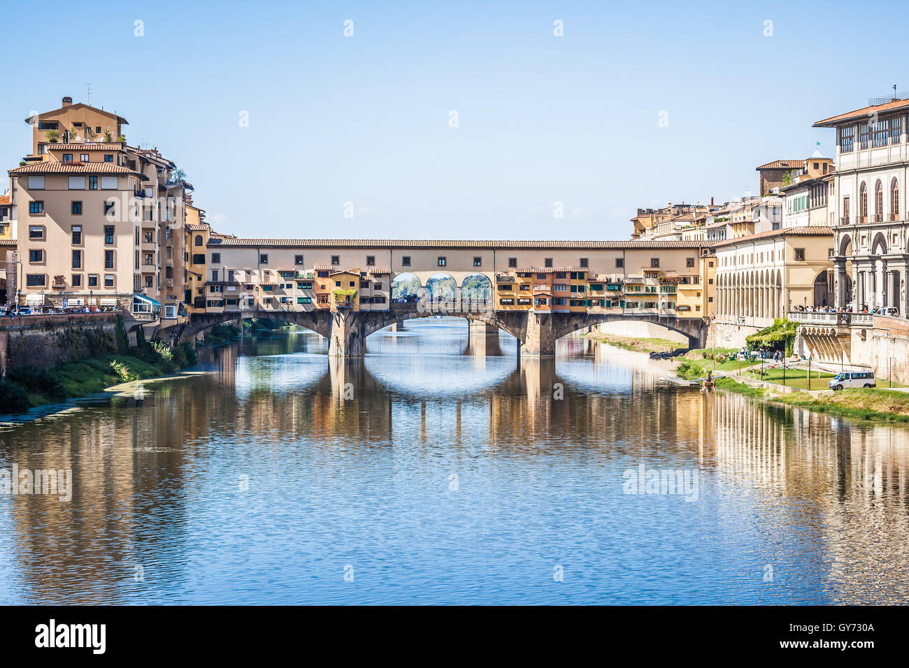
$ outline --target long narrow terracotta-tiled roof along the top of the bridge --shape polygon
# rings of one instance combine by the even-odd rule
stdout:
[[[704,241],[496,241],[452,239],[210,239],[209,245],[272,246],[280,248],[700,248],[710,245]]]

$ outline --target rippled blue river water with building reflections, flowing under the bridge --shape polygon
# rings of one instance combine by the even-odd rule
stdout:
[[[909,599],[904,428],[666,387],[670,363],[580,338],[518,362],[506,334],[407,325],[355,363],[247,339],[0,426],[0,469],[74,476],[69,503],[0,496],[0,602]],[[689,486],[626,494],[642,464]]]

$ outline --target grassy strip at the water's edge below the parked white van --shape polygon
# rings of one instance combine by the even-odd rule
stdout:
[[[909,423],[909,394],[904,392],[856,388],[819,396],[794,392],[768,398],[767,390],[764,388],[749,387],[746,384],[737,383],[732,378],[719,378],[716,386],[730,392],[767,399],[777,404],[799,406],[856,420]]]

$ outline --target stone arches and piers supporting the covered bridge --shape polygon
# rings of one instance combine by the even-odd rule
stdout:
[[[245,318],[264,318],[286,324],[296,324],[322,334],[329,340],[328,354],[333,357],[359,357],[365,352],[365,338],[385,327],[413,318],[449,315],[468,321],[484,323],[512,334],[521,342],[520,353],[534,357],[555,354],[555,342],[567,334],[584,330],[594,324],[622,321],[644,321],[659,324],[688,337],[692,348],[706,344],[707,324],[703,318],[680,318],[659,312],[617,313],[534,313],[532,311],[494,311],[485,302],[391,304],[387,311],[355,311],[338,308],[336,311],[256,310],[231,311],[213,314],[193,314],[178,334],[192,338],[215,324]]]

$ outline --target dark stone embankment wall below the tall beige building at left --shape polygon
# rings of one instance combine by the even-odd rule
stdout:
[[[116,314],[28,315],[0,321],[0,374],[116,352]]]

